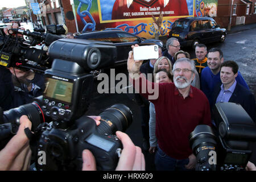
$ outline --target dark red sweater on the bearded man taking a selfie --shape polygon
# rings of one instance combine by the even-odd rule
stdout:
[[[131,80],[131,78],[130,78]],[[156,83],[146,80],[144,76],[131,81],[137,91],[148,98],[150,94],[142,93],[142,83],[148,88],[155,87]],[[191,86],[189,96],[183,99],[173,83],[158,84],[159,96],[150,100],[155,105],[156,138],[159,147],[171,158],[186,159],[192,154],[189,146],[189,134],[197,125],[209,125],[210,107],[207,97],[201,90]],[[151,94],[154,95],[154,94]]]

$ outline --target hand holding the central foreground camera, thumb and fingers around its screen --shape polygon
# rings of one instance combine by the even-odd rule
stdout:
[[[117,164],[117,171],[144,171],[145,170],[145,159],[142,154],[141,148],[134,145],[130,137],[122,133],[121,131],[116,132],[117,137],[123,144],[123,150]],[[82,152],[82,171],[96,170],[96,162],[92,152],[84,150]]]

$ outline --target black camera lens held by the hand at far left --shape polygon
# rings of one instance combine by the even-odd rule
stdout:
[[[32,122],[32,131],[35,131],[36,127],[42,122],[44,122],[44,115],[36,102],[32,104],[26,104],[14,109],[10,109],[3,112],[3,123],[13,123],[19,126],[19,118],[22,115],[27,115],[28,119]],[[18,127],[16,127],[18,130]]]

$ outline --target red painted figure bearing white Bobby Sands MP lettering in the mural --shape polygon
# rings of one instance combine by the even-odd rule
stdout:
[[[189,15],[186,0],[115,0],[112,19]]]

